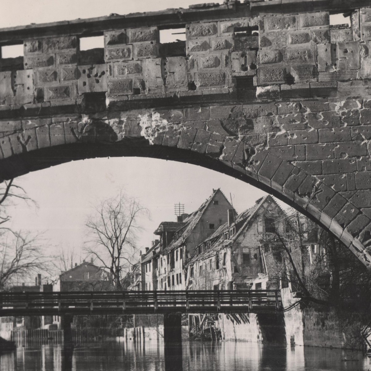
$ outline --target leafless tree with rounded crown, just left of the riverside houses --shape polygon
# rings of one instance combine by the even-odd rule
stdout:
[[[112,282],[122,289],[121,279],[134,262],[135,241],[142,217],[149,211],[134,197],[120,190],[118,196],[104,200],[88,218],[89,241],[85,251],[109,270]]]

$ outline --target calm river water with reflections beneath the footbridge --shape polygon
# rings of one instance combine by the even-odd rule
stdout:
[[[61,345],[21,346],[14,352],[0,355],[0,370],[369,371],[371,358],[339,349],[284,348],[247,342],[184,342],[181,349],[174,347],[164,351],[162,341],[146,340],[135,344],[109,340],[76,345],[73,351]]]

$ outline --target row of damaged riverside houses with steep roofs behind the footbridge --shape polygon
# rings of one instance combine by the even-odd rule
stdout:
[[[267,260],[283,259],[264,246],[266,236],[286,234],[284,211],[271,196],[240,215],[220,189],[190,215],[160,223],[160,237],[146,248],[129,273],[129,290],[277,289]],[[276,246],[276,247],[275,247]],[[274,257],[274,258],[272,258]]]

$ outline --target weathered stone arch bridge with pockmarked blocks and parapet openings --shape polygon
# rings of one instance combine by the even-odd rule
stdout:
[[[0,178],[140,155],[214,168],[371,268],[369,0],[229,1],[0,30]],[[345,13],[351,26],[330,25]],[[161,43],[161,30],[186,41]],[[80,50],[104,36],[104,49]]]

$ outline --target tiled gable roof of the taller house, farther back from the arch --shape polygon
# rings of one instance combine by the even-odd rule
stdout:
[[[194,227],[196,227],[196,224],[201,219],[201,216],[213,200],[214,196],[220,192],[223,194],[223,192],[220,190],[220,188],[213,190],[213,193],[207,200],[193,213],[191,213],[187,218],[183,220],[184,226],[182,226],[179,230],[177,230],[177,233],[179,234],[178,239],[171,240],[170,244],[163,250],[163,253],[169,253],[170,251],[176,249],[177,247],[180,247],[181,244],[184,242],[185,239],[187,239],[188,236],[192,233]],[[224,194],[223,194],[224,196]],[[225,197],[225,196],[224,196]],[[226,198],[226,197],[225,197]],[[226,198],[227,200],[227,198]],[[229,203],[229,201],[227,200]],[[232,206],[231,206],[232,207]]]

